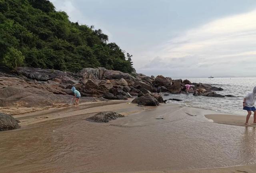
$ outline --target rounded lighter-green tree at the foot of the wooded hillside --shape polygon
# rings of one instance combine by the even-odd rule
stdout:
[[[10,69],[16,69],[23,64],[24,59],[25,57],[22,55],[21,51],[11,47],[8,48],[2,62]]]

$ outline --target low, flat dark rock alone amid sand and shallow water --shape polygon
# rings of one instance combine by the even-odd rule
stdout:
[[[86,120],[93,121],[93,122],[109,122],[111,120],[116,120],[116,118],[124,117],[121,114],[116,112],[100,112],[94,116],[87,118]]]

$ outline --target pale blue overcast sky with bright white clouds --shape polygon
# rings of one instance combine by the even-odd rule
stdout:
[[[133,55],[137,73],[256,76],[256,0],[50,0]]]

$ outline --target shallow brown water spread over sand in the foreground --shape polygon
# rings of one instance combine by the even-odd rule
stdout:
[[[1,171],[176,170],[256,163],[256,128],[209,122],[196,108],[158,106],[105,124],[88,122],[88,116],[1,132]]]

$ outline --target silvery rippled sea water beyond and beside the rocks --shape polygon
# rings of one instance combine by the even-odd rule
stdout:
[[[206,97],[206,96],[193,96],[189,94],[170,94],[163,96],[164,99],[178,98],[183,101],[175,102],[185,106],[203,108],[214,110],[216,112],[223,112],[228,114],[246,115],[246,111],[242,110],[242,102],[244,96],[252,92],[256,86],[256,77],[241,77],[241,78],[194,78],[188,79],[192,83],[207,83],[212,86],[221,87],[223,91],[216,91],[218,94],[226,95],[232,94],[236,97]]]

